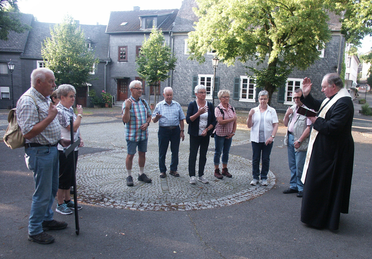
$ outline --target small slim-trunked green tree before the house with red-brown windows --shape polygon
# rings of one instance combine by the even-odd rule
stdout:
[[[158,82],[169,78],[169,71],[176,66],[177,58],[173,57],[170,47],[166,44],[161,30],[155,27],[150,37],[144,39],[140,55],[136,59],[138,75],[154,88],[154,102],[157,103],[156,87]]]

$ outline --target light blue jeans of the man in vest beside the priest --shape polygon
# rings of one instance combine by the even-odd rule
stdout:
[[[301,181],[302,170],[306,160],[306,151],[295,151],[294,137],[288,134],[288,164],[291,170],[290,188],[293,190],[303,191],[304,184]]]

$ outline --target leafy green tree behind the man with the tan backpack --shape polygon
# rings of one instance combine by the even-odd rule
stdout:
[[[44,40],[41,54],[47,61],[47,68],[54,71],[56,84],[83,86],[93,72],[94,51],[86,46],[84,32],[73,17],[66,16],[61,24],[50,29],[51,37]]]

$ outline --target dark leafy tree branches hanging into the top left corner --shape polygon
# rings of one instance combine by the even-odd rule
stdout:
[[[17,0],[0,0],[0,40],[8,40],[10,31],[22,33],[31,29],[22,24],[20,15]]]

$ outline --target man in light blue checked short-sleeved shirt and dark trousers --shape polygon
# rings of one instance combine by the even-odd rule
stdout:
[[[185,140],[184,119],[185,114],[182,111],[181,105],[173,101],[173,89],[171,87],[164,88],[164,100],[159,102],[153,112],[153,122],[159,121],[159,169],[160,178],[166,177],[167,167],[165,165],[165,157],[170,141],[170,151],[172,152],[170,171],[172,176],[180,176],[177,173],[178,166],[178,151],[180,148],[180,139]]]

